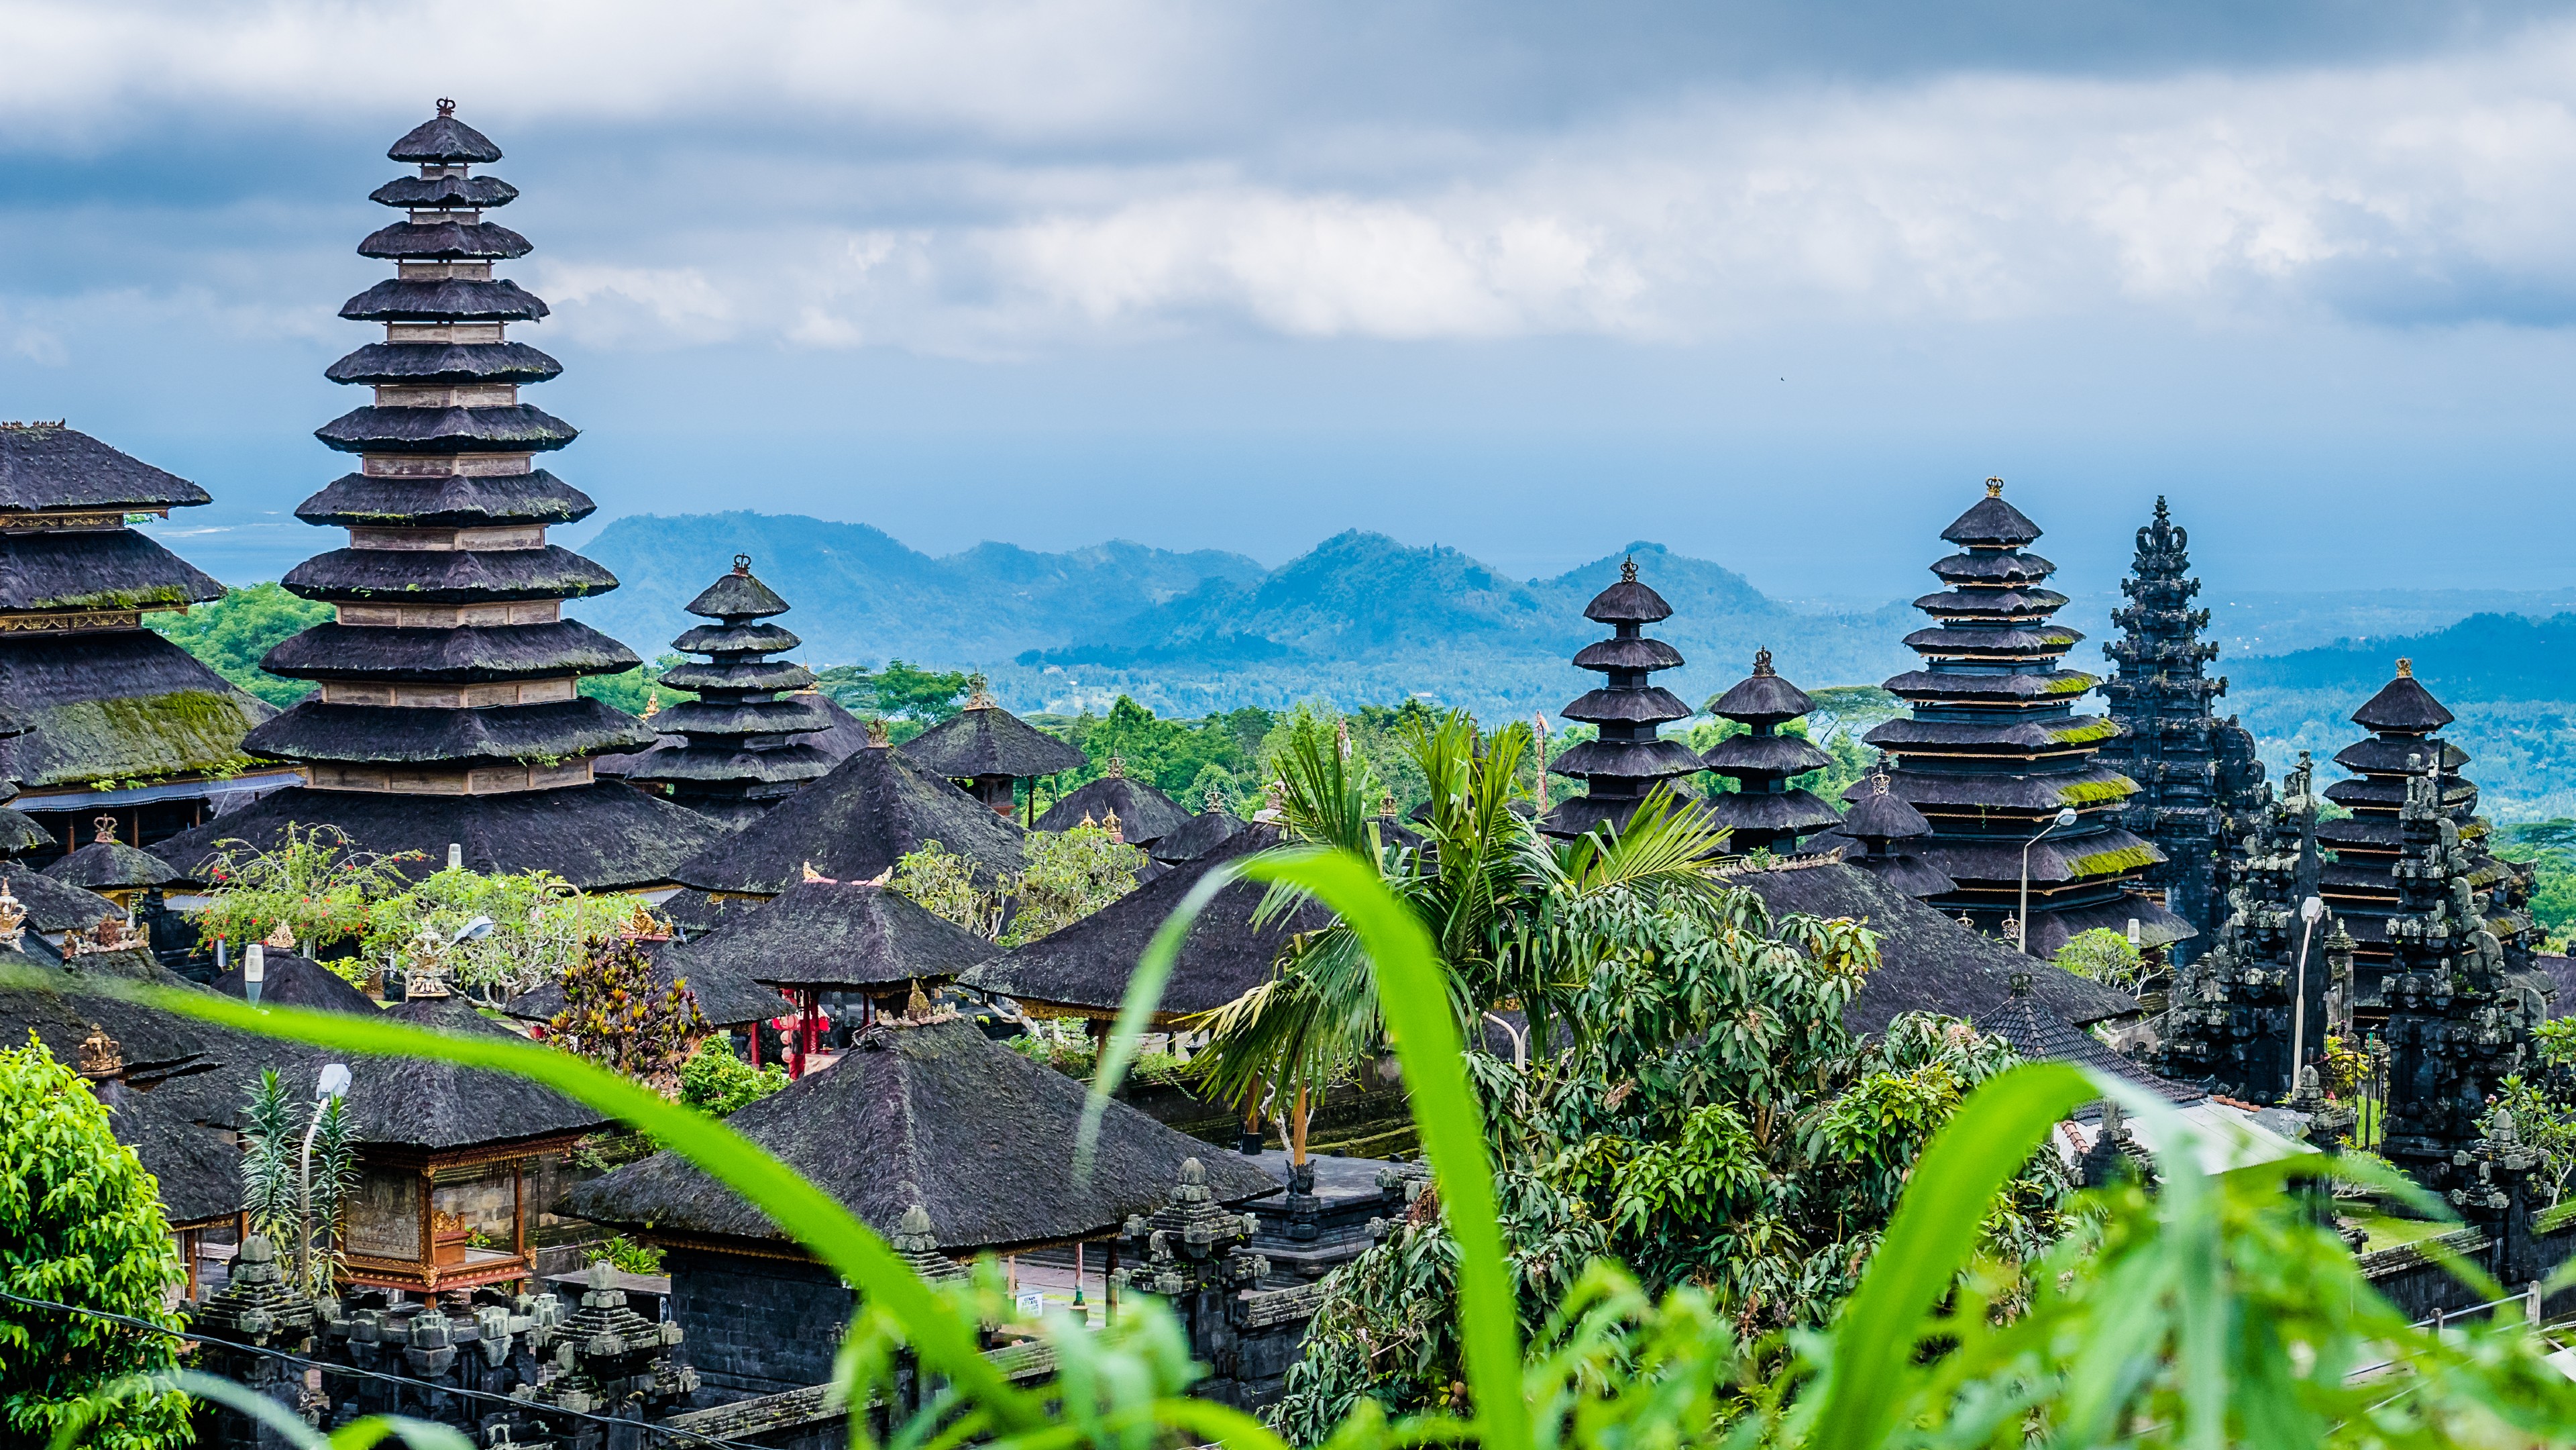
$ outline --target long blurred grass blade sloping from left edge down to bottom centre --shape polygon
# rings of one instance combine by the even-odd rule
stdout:
[[[1043,1406],[1012,1388],[984,1360],[974,1326],[951,1313],[912,1272],[912,1265],[894,1257],[894,1249],[842,1208],[840,1200],[716,1118],[680,1107],[659,1092],[598,1069],[562,1048],[544,1048],[515,1038],[451,1038],[402,1022],[350,1017],[345,1012],[252,1007],[211,992],[147,986],[129,992],[129,997],[165,1012],[263,1038],[507,1071],[541,1082],[611,1118],[621,1118],[739,1192],[848,1285],[884,1306],[904,1326],[922,1362],[948,1375],[1005,1429],[1038,1429],[1046,1424]]]

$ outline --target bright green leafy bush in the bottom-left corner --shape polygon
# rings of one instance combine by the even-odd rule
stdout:
[[[90,1084],[33,1035],[0,1051],[0,1288],[180,1329],[162,1308],[185,1277],[152,1174],[116,1141]],[[88,1445],[185,1445],[188,1401],[95,1396],[126,1375],[167,1373],[178,1339],[0,1301],[0,1427],[33,1445],[98,1406]]]

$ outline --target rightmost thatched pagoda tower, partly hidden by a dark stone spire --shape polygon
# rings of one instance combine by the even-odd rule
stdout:
[[[2460,775],[2468,752],[2439,734],[2450,721],[2450,708],[2414,677],[2414,662],[2398,659],[2396,677],[2352,711],[2370,739],[2334,757],[2357,778],[2326,786],[2326,798],[2352,814],[2316,827],[2318,845],[2334,852],[2321,894],[2352,930],[2352,994],[2365,1022],[2388,1007],[2383,984],[2398,956],[2391,922],[2406,914],[2403,876],[2411,871],[2403,811],[2424,791],[2460,837],[2455,876],[2486,901],[2486,930],[2514,958],[2514,971],[2530,968],[2530,914],[2522,909],[2530,883],[2486,850],[2491,827],[2478,816],[2478,786]]]

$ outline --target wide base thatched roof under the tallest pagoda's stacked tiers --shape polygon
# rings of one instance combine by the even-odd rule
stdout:
[[[216,842],[247,840],[273,847],[289,824],[330,822],[366,850],[417,850],[404,865],[428,876],[461,845],[474,871],[544,868],[582,891],[621,891],[672,881],[672,871],[714,845],[724,832],[693,811],[631,786],[564,786],[507,796],[392,796],[374,791],[314,791],[291,786],[204,827],[152,845],[191,881],[216,852]]]

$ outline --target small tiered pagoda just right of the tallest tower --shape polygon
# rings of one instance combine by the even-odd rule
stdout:
[[[814,672],[770,659],[804,641],[768,623],[788,613],[788,603],[752,577],[750,554],[734,554],[734,572],[683,608],[716,623],[701,623],[670,646],[706,654],[706,662],[667,670],[662,683],[698,698],[680,701],[654,721],[683,744],[644,752],[626,767],[626,780],[662,788],[672,801],[739,827],[806,780],[832,773],[835,760],[801,739],[832,729],[832,716],[824,713],[822,695],[781,698],[781,690],[811,685]]]

